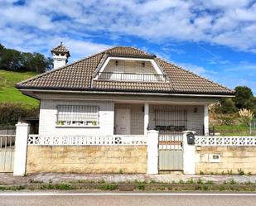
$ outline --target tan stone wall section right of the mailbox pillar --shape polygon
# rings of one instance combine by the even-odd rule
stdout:
[[[220,155],[220,162],[212,162]],[[256,174],[256,146],[201,146],[196,150],[196,174]]]

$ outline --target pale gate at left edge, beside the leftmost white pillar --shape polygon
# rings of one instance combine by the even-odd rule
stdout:
[[[0,172],[13,172],[15,136],[0,135]]]

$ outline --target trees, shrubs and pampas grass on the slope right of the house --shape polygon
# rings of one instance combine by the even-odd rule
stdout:
[[[211,129],[225,135],[256,133],[256,97],[246,86],[238,86],[234,90],[234,98],[222,98],[210,106]]]

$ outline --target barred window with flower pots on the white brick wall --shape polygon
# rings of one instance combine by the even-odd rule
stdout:
[[[99,126],[99,106],[58,105],[58,126]]]

